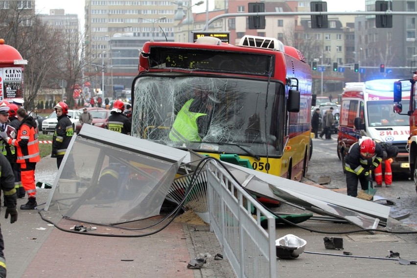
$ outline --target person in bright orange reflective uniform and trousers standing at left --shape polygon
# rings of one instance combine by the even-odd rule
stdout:
[[[31,116],[27,115],[24,108],[18,109],[17,117],[21,122],[21,125],[16,139],[9,137],[4,138],[4,134],[1,134],[1,137],[16,148],[16,162],[19,164],[23,188],[28,196],[27,203],[22,205],[20,209],[35,209],[38,206],[36,203],[35,167],[36,162],[41,161],[41,156],[39,155],[38,130],[36,121]]]

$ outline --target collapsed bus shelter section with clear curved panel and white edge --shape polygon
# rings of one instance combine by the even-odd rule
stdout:
[[[91,125],[68,149],[45,210],[107,225],[159,215],[187,154]]]

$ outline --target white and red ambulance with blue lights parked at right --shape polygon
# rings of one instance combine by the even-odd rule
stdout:
[[[407,140],[410,136],[409,117],[393,111],[394,82],[396,79],[379,79],[346,83],[342,93],[340,123],[337,138],[337,155],[345,172],[345,157],[350,146],[362,136],[376,142],[389,142],[398,147],[398,156],[391,164],[393,172],[409,172]],[[403,92],[410,92],[410,82],[402,83]],[[408,106],[410,93],[402,95]]]

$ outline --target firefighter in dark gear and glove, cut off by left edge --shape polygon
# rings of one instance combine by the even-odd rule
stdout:
[[[4,218],[8,218],[10,214],[10,223],[15,223],[18,217],[16,210],[17,197],[15,189],[15,176],[10,163],[2,154],[0,154],[0,187],[1,190],[3,190],[4,201],[6,204]],[[6,277],[6,260],[4,258],[3,250],[4,241],[0,229],[0,278]]]

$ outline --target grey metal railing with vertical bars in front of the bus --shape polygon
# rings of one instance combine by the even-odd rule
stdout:
[[[207,167],[210,230],[239,278],[275,278],[275,218],[214,160]],[[267,218],[267,228],[261,226]]]

